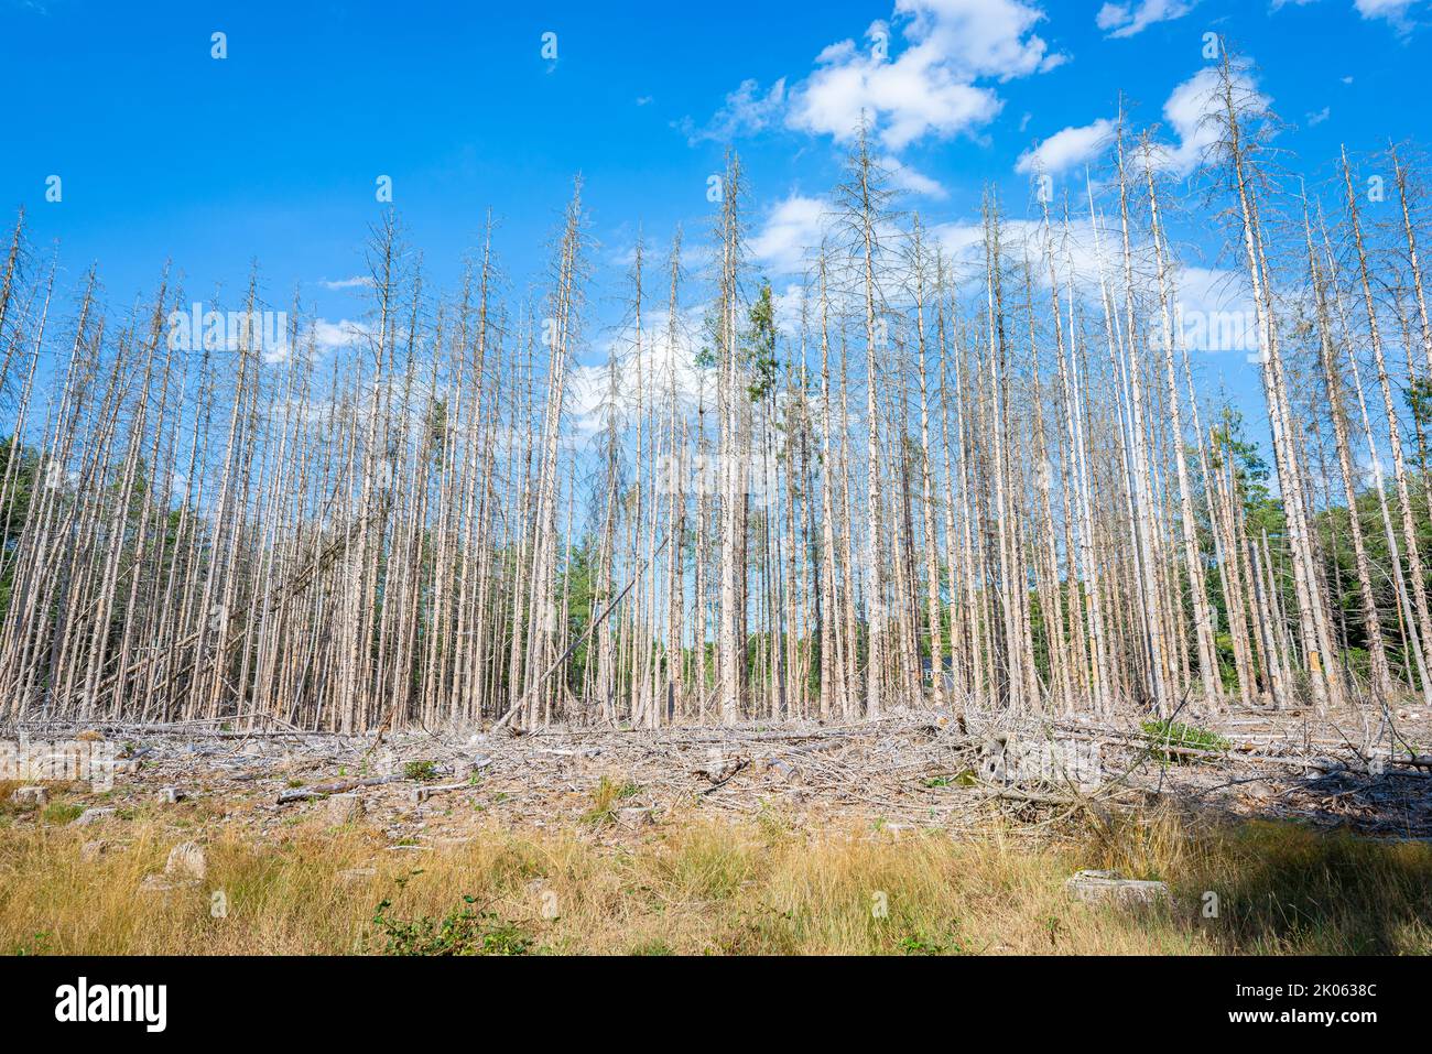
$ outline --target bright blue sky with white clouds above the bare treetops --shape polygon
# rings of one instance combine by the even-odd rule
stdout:
[[[676,223],[705,235],[706,180],[727,145],[748,172],[753,264],[780,285],[862,107],[906,188],[901,206],[958,232],[988,182],[1024,215],[1020,159],[1041,142],[1065,166],[1058,186],[1081,179],[1083,146],[1120,92],[1136,122],[1166,120],[1214,32],[1257,64],[1292,125],[1280,145],[1327,176],[1340,143],[1432,140],[1425,92],[1408,89],[1432,57],[1429,17],[1425,0],[0,0],[19,115],[0,139],[0,205],[26,206],[37,245],[60,241],[70,285],[99,261],[115,306],[152,291],[166,259],[190,298],[216,285],[236,298],[256,259],[274,306],[296,285],[339,319],[358,316],[362,291],[328,284],[362,269],[379,175],[431,281],[451,288],[491,206],[521,289],[580,172],[600,316],[639,223],[657,249]],[[556,62],[541,53],[548,32]],[[46,200],[52,175],[60,202]],[[1206,372],[1234,387],[1252,375],[1242,357]]]

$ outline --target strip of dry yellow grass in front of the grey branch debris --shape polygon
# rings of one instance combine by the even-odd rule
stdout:
[[[488,828],[392,849],[319,821],[255,843],[136,815],[105,828],[0,829],[6,954],[1206,954],[1428,952],[1432,848],[1171,815],[1040,846],[875,826],[796,831],[673,816],[626,842],[610,826]],[[86,855],[87,839],[109,851]],[[200,838],[208,876],[143,889]],[[122,841],[120,841],[122,839]],[[1071,902],[1078,868],[1161,878],[1171,908]],[[371,874],[361,869],[372,869]],[[349,872],[349,874],[344,874]],[[1200,912],[1219,894],[1219,917]],[[228,912],[211,911],[222,891]],[[388,902],[387,906],[379,905]],[[885,905],[885,912],[879,906]]]

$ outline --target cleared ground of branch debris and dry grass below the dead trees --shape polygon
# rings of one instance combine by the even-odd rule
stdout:
[[[1432,713],[1180,720],[27,726],[122,763],[0,785],[0,952],[1432,951]]]

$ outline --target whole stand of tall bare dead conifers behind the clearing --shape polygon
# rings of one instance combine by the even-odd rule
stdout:
[[[706,243],[639,239],[606,324],[580,186],[530,292],[491,222],[444,292],[384,216],[338,335],[256,274],[229,309],[166,272],[112,311],[20,215],[0,717],[1432,699],[1426,188],[1406,146],[1289,179],[1252,77],[1206,77],[1201,193],[1126,115],[1028,218],[992,190],[977,223],[899,213],[861,130],[783,292],[732,155]],[[1194,311],[1194,233],[1242,342]],[[1209,377],[1226,351],[1256,408]]]

